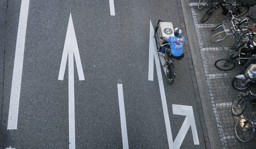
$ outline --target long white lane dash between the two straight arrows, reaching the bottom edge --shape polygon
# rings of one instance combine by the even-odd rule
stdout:
[[[120,120],[121,120],[121,131],[123,139],[123,148],[128,149],[128,137],[127,137],[127,128],[126,128],[126,118],[124,110],[124,94],[123,94],[123,84],[117,84],[118,90],[118,101],[119,101],[119,110],[120,110]]]

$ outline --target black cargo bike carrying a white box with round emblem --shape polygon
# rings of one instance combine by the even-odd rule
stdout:
[[[157,22],[157,26],[155,27],[155,40],[156,40],[156,47],[157,47],[157,52],[158,52],[158,56],[161,55],[164,58],[165,54],[161,53],[162,48],[164,47],[168,47],[170,48],[170,43],[168,43],[167,41],[162,40],[160,37],[172,37],[174,36],[174,29],[173,29],[173,25],[171,22],[163,22],[162,20],[158,20]],[[166,78],[167,78],[167,82],[168,84],[173,84],[174,80],[175,80],[175,75],[176,75],[176,71],[175,71],[175,67],[173,65],[174,59],[177,60],[181,60],[184,57],[184,54],[182,54],[181,56],[169,56],[168,57],[168,67],[166,69]]]

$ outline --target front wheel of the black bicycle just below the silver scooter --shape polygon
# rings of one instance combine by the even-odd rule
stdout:
[[[242,115],[243,112],[245,112],[247,102],[246,102],[246,98],[244,96],[245,96],[245,94],[240,93],[239,95],[237,95],[235,97],[235,99],[232,102],[231,112],[236,117]]]

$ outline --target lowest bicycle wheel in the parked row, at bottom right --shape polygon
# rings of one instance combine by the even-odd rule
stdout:
[[[235,123],[235,135],[242,142],[249,142],[254,136],[254,128],[252,122],[248,118],[240,118]]]

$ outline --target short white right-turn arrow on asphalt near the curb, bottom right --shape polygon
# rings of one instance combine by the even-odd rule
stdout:
[[[199,140],[198,140],[197,130],[196,130],[196,122],[195,122],[192,106],[184,106],[184,105],[172,105],[172,106],[173,106],[173,114],[186,116],[181,126],[181,129],[179,130],[179,133],[173,142],[173,148],[181,147],[181,144],[190,126],[192,130],[194,144],[199,145]]]

